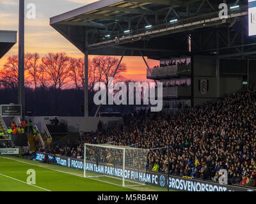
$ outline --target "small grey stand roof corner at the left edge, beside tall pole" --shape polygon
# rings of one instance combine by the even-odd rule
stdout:
[[[0,31],[0,59],[17,43],[17,31]]]

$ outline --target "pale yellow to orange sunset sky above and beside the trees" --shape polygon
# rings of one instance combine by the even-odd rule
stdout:
[[[47,52],[66,52],[72,57],[83,57],[74,45],[49,25],[49,18],[93,2],[95,0],[25,0],[25,15],[27,4],[36,5],[36,19],[25,17],[25,52],[38,52],[40,56]],[[1,0],[0,30],[18,31],[18,15],[19,0]],[[17,54],[18,43],[0,60],[0,69],[6,57]],[[141,57],[124,57],[122,62],[127,65],[126,78],[147,80],[146,65]],[[148,64],[152,67],[157,61],[148,59]]]

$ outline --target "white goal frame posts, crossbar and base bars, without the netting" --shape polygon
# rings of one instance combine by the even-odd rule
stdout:
[[[88,176],[87,173],[86,173],[86,147],[102,147],[102,148],[108,148],[108,149],[122,150],[123,151],[123,161],[122,161],[123,173],[122,173],[122,178],[111,176],[111,175],[107,175],[107,174]],[[113,179],[122,180],[122,187],[145,186],[145,183],[143,183],[143,182],[136,182],[136,181],[132,181],[132,183],[134,183],[134,185],[125,185],[125,152],[126,152],[127,149],[136,150],[137,148],[127,147],[127,146],[116,147],[116,146],[109,145],[109,144],[89,144],[89,143],[84,143],[84,178],[93,179],[93,178],[97,178],[97,177],[109,177],[109,178],[113,178]],[[142,149],[137,149],[137,150],[142,150]],[[145,149],[143,149],[143,150],[145,150]],[[106,182],[104,180],[101,180],[101,181],[102,182]],[[111,182],[107,182],[107,183],[112,184]],[[115,184],[115,185],[118,185],[118,184]],[[118,185],[118,186],[121,186],[121,185]]]

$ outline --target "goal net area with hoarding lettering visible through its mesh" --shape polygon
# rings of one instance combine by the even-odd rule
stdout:
[[[84,144],[84,177],[118,186],[145,185],[147,149]]]

